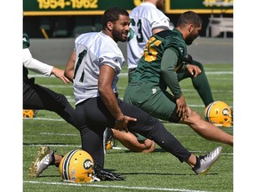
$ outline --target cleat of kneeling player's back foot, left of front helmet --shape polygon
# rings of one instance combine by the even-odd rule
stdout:
[[[36,159],[29,167],[28,176],[38,177],[48,166],[54,164],[54,151],[47,147],[40,147]]]

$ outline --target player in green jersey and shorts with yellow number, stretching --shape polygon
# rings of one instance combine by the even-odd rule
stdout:
[[[197,66],[182,62],[187,55],[187,45],[192,44],[201,28],[200,17],[188,11],[180,15],[177,28],[151,36],[132,81],[124,92],[124,101],[151,116],[172,123],[188,124],[204,139],[233,146],[232,135],[204,121],[196,111],[188,108],[177,78],[177,74],[184,71],[195,77],[201,73]]]

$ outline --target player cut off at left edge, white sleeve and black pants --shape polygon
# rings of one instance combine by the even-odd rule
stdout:
[[[55,68],[40,60],[33,58],[29,51],[29,38],[23,34],[23,109],[45,109],[53,111],[65,119],[68,124],[77,127],[75,109],[70,105],[67,98],[58,92],[53,92],[40,84],[35,84],[35,78],[28,78],[28,69],[44,76],[54,75],[64,84],[70,83],[64,76],[64,70]]]

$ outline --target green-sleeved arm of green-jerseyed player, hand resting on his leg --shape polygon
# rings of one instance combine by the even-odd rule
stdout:
[[[169,48],[165,50],[161,61],[161,73],[164,78],[164,83],[170,88],[176,98],[177,113],[180,117],[188,116],[188,107],[184,96],[182,95],[180,84],[175,71],[175,66],[178,62],[178,54]]]

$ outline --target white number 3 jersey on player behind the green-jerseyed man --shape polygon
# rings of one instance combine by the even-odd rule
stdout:
[[[127,44],[128,68],[136,68],[155,28],[172,29],[169,18],[155,4],[143,2],[129,14],[130,36]]]

